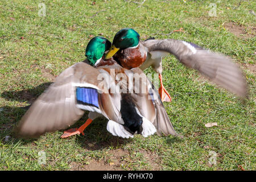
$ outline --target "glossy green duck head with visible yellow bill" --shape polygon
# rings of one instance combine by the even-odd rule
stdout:
[[[119,49],[136,47],[139,44],[139,34],[132,28],[123,28],[114,36],[113,44],[110,51],[106,54],[105,59],[110,59]]]

